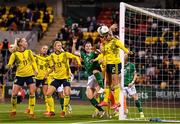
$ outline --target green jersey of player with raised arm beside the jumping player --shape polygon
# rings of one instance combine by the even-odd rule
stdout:
[[[81,58],[83,59],[84,68],[89,76],[93,74],[93,70],[100,69],[100,65],[98,62],[91,62],[92,59],[95,59],[97,57],[97,54],[95,52],[86,54],[85,52],[81,51],[80,54]]]

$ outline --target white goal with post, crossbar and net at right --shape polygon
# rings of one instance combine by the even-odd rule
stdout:
[[[136,67],[136,90],[145,119],[148,120],[180,120],[179,19],[180,10],[147,9],[120,3],[120,39],[135,53],[129,57],[129,61]],[[123,53],[121,56],[123,58]],[[123,107],[124,95],[121,92],[120,120],[125,119],[124,112],[127,112]],[[129,95],[127,109],[128,119],[140,117],[135,102]]]

